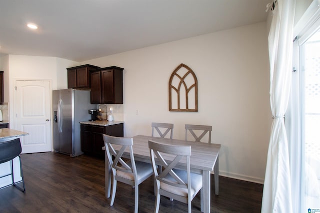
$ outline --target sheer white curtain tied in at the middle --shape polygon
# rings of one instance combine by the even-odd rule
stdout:
[[[273,116],[261,213],[292,213],[288,142],[284,127],[292,73],[295,0],[277,0],[268,35],[270,106]]]

